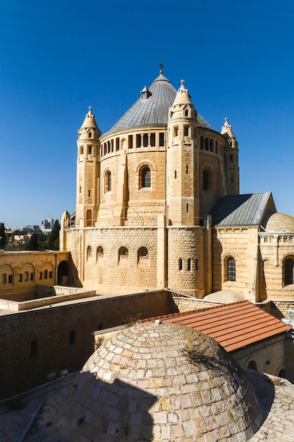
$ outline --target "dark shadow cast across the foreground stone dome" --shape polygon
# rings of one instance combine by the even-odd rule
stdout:
[[[149,409],[156,401],[156,396],[120,379],[108,383],[81,372],[59,408],[58,426],[72,442],[152,441]]]

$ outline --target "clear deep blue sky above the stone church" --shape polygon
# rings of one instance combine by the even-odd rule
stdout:
[[[75,210],[77,130],[102,133],[159,73],[239,143],[240,192],[294,216],[293,0],[0,0],[0,221]]]

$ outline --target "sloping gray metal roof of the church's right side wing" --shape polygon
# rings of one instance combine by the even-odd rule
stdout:
[[[271,192],[223,196],[214,204],[210,215],[218,226],[250,226],[262,224]]]

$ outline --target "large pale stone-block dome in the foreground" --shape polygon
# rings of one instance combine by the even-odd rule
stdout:
[[[261,423],[244,371],[216,341],[163,323],[104,342],[59,409],[73,442],[247,441]]]

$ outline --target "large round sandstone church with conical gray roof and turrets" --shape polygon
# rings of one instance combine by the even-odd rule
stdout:
[[[270,192],[240,195],[228,118],[216,131],[195,105],[184,80],[176,90],[160,71],[108,132],[89,107],[75,214],[61,219],[71,285],[293,299],[294,218],[276,213]]]

